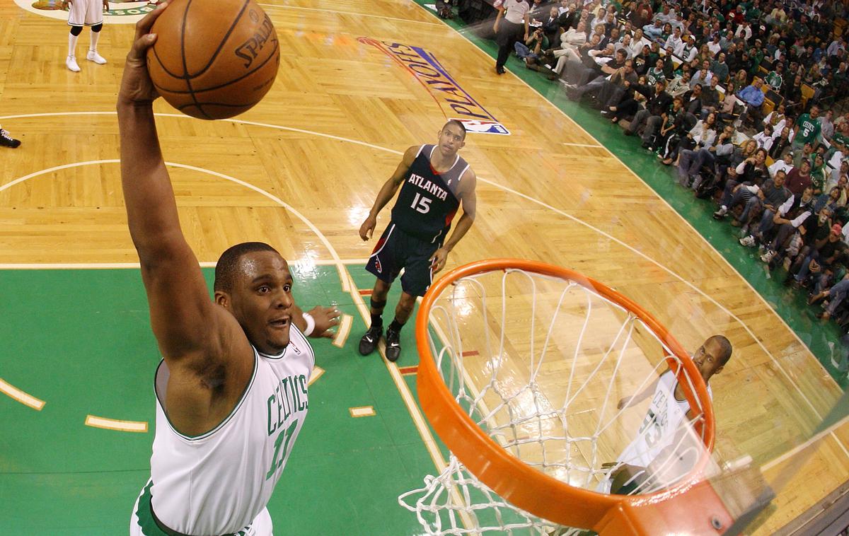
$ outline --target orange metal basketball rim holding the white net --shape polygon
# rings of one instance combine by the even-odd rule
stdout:
[[[526,465],[490,438],[455,401],[429,344],[430,310],[449,285],[466,276],[491,271],[521,270],[576,282],[612,303],[630,310],[672,350],[667,357],[681,382],[690,407],[701,407],[704,416],[696,423],[706,446],[699,464],[671,489],[653,494],[600,494],[576,488]],[[638,304],[606,285],[542,262],[517,259],[481,260],[464,265],[441,277],[425,294],[416,321],[416,340],[421,356],[418,375],[419,401],[436,433],[464,466],[504,500],[535,516],[569,527],[591,528],[600,534],[718,534],[734,518],[702,477],[713,449],[714,417],[704,380],[693,360],[666,328]],[[678,364],[682,366],[678,366]],[[694,386],[694,389],[690,387]]]

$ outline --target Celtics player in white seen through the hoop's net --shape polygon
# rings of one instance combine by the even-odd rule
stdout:
[[[711,399],[711,377],[722,371],[731,359],[731,352],[728,338],[713,335],[693,355],[693,362],[705,380]],[[645,489],[663,488],[674,483],[693,468],[699,456],[698,452],[692,452],[698,438],[689,431],[687,423],[694,421],[698,415],[690,408],[678,379],[672,370],[667,369],[642,392],[619,401],[616,407],[624,410],[651,395],[651,404],[637,437],[616,458],[616,462],[602,465],[608,473],[607,478],[599,483],[599,491],[644,493]],[[687,450],[690,450],[689,455]]]

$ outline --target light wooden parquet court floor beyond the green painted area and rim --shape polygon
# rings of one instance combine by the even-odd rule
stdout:
[[[214,262],[233,243],[261,240],[290,260],[335,265],[343,292],[369,288],[368,277],[362,283],[351,277],[363,280],[357,262],[374,243],[363,243],[357,230],[380,185],[406,148],[435,142],[448,117],[477,113],[477,105],[509,135],[469,133],[461,154],[479,177],[478,215],[447,267],[493,257],[563,265],[641,304],[686,349],[715,333],[728,337],[734,356],[711,381],[717,456],[750,455],[767,480],[781,476],[777,508],[756,533],[775,533],[846,482],[849,426],[809,442],[841,396],[840,386],[627,162],[515,75],[496,75],[486,53],[410,0],[262,5],[278,31],[281,64],[261,104],[216,122],[155,105],[183,231],[202,262]],[[138,261],[121,198],[114,113],[132,31],[132,24],[107,20],[99,50],[109,63],[82,60],[75,74],[65,69],[62,20],[12,2],[0,5],[0,125],[23,141],[0,151],[0,264],[7,269],[0,278],[43,265]],[[86,30],[79,49],[87,42]],[[411,62],[393,58],[393,44],[436,59],[462,87],[451,93],[457,106],[433,90],[445,86],[435,83],[429,91]],[[385,209],[379,230],[387,221]],[[25,298],[28,291],[20,293]],[[367,316],[362,299],[351,304],[351,314]],[[399,366],[417,360],[408,331]],[[343,348],[351,359],[360,335],[351,332]],[[17,359],[0,351],[0,378],[27,391],[4,372]],[[395,365],[380,366],[380,374],[404,383]],[[550,384],[559,386],[560,378]],[[138,384],[144,389],[149,383]],[[0,397],[3,412],[13,405],[18,402]],[[410,419],[420,420],[411,410]],[[316,418],[309,426],[322,423]],[[21,438],[22,448],[28,440]],[[3,472],[15,470],[25,466]]]

